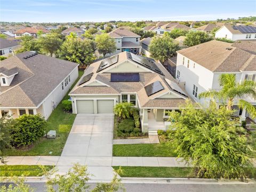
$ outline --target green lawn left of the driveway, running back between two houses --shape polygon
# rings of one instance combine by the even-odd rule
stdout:
[[[79,77],[83,75],[83,71],[79,70]],[[73,86],[76,84],[73,84]],[[71,89],[73,88],[71,86]],[[69,93],[69,91],[68,91]],[[63,100],[68,99],[68,93],[65,95]],[[53,155],[60,156],[63,147],[65,146],[66,140],[68,138],[69,131],[73,125],[76,115],[71,113],[66,113],[60,104],[54,109],[51,116],[47,119],[47,131],[56,130],[56,139],[46,139],[42,138],[39,141],[33,143],[32,146],[21,149],[6,149],[4,150],[5,156],[37,156],[37,155]],[[52,151],[51,154],[50,151]]]

